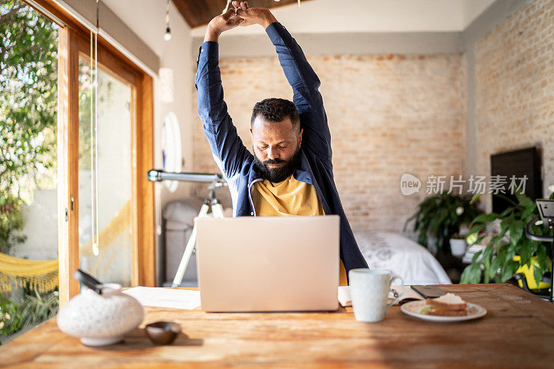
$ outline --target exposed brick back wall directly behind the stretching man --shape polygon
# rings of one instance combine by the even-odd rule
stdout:
[[[461,174],[465,158],[463,55],[337,55],[309,57],[321,80],[332,134],[334,176],[355,231],[401,231],[425,196],[429,174]],[[254,103],[292,99],[276,57],[220,60],[225,100],[242,141]],[[195,102],[196,104],[196,102]],[[202,122],[193,117],[194,168],[217,171]],[[400,177],[422,179],[404,197]]]

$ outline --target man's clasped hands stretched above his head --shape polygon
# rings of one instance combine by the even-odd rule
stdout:
[[[264,29],[277,21],[267,8],[249,8],[248,1],[233,1],[233,8],[229,8],[222,15],[213,18],[206,28],[204,42],[215,41],[226,30],[237,26],[251,26],[260,24]]]

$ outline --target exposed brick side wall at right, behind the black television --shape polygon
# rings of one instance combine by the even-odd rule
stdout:
[[[476,168],[536,145],[554,183],[554,0],[530,1],[475,44]],[[486,201],[490,207],[490,201]]]

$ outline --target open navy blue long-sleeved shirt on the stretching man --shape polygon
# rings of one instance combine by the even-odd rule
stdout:
[[[301,165],[295,170],[294,178],[314,186],[325,214],[340,216],[340,255],[348,276],[350,269],[367,268],[368,264],[359,251],[334,184],[331,134],[318,91],[319,78],[285,27],[275,22],[266,28],[266,32],[294,92],[293,102],[300,115],[301,128],[304,129],[300,149]],[[256,216],[250,191],[253,183],[264,178],[227,112],[223,100],[218,47],[217,42],[208,41],[200,48],[195,78],[197,111],[204,122],[204,133],[213,158],[229,183],[233,216]]]

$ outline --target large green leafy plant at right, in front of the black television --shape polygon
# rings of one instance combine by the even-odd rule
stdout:
[[[479,234],[488,224],[495,220],[500,221],[500,233],[494,235],[485,249],[477,252],[470,265],[465,267],[461,283],[479,283],[483,275],[485,283],[490,280],[506,282],[523,265],[531,266],[533,256],[534,277],[538,282],[550,268],[548,264],[548,247],[544,242],[529,240],[525,236],[525,227],[533,217],[539,215],[537,205],[526,195],[517,195],[517,202],[508,197],[499,195],[510,201],[512,206],[502,213],[481,214],[471,223],[470,235]],[[536,235],[548,235],[551,231],[542,226],[533,226]],[[479,242],[483,237],[479,237]],[[520,255],[520,261],[515,261],[514,256]]]

